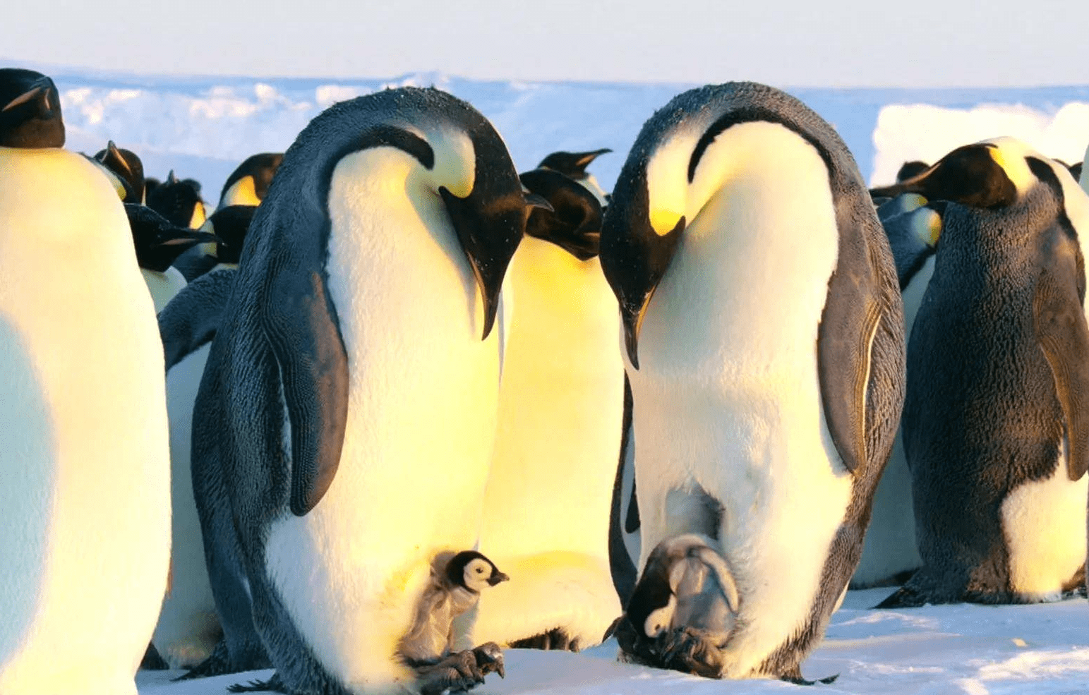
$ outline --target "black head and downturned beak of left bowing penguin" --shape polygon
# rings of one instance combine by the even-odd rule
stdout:
[[[495,324],[503,277],[525,233],[529,206],[535,204],[527,200],[521,190],[487,202],[482,196],[476,195],[475,190],[460,198],[445,186],[440,186],[439,195],[446,204],[457,239],[468,257],[484,298],[481,340],[485,340]]]

